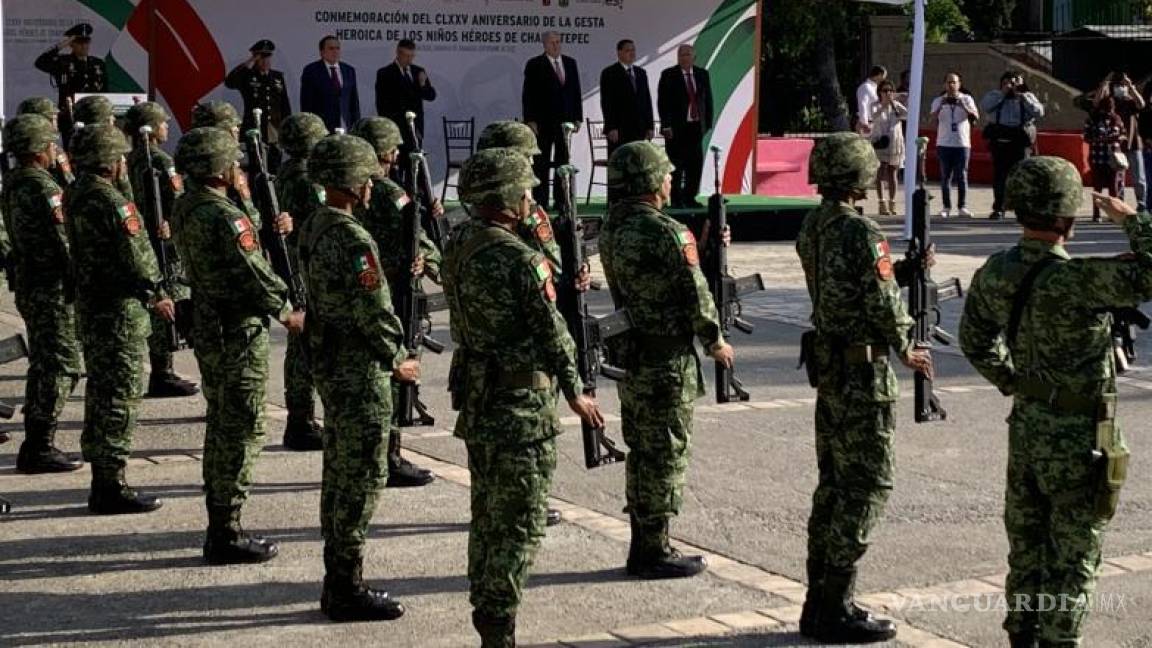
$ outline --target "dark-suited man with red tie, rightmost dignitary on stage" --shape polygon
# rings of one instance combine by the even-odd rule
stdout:
[[[660,129],[668,158],[676,169],[672,173],[672,206],[703,206],[700,193],[704,172],[704,134],[712,129],[712,83],[708,70],[696,67],[696,50],[681,45],[677,65],[660,74],[657,104]]]

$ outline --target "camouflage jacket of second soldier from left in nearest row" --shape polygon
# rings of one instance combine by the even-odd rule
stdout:
[[[79,302],[165,296],[136,205],[111,180],[81,174],[65,191],[65,213]]]

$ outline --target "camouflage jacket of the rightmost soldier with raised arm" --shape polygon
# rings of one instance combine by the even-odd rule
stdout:
[[[1128,218],[1124,232],[1131,256],[1070,258],[1062,246],[1036,239],[992,255],[972,277],[960,325],[961,348],[976,370],[1005,394],[1022,376],[1085,394],[1115,391],[1106,311],[1152,299],[1152,219]],[[1005,330],[1016,292],[1045,258],[1055,263],[1036,277],[1009,348]]]

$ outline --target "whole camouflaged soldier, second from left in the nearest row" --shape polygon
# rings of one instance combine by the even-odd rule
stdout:
[[[143,391],[149,308],[168,321],[175,306],[136,205],[116,190],[128,173],[128,141],[98,123],[73,135],[76,182],[65,191],[76,281],[76,317],[88,368],[81,446],[92,465],[93,513],[144,513],[160,500],[124,483]]]

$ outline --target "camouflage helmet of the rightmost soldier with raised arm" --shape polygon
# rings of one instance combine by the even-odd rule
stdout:
[[[1075,217],[1084,204],[1079,171],[1052,156],[1028,158],[1008,172],[1005,206],[1017,216]]]

